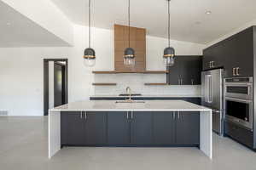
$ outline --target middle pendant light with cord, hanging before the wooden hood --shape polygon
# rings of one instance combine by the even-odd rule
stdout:
[[[130,46],[130,0],[128,0],[128,19],[129,19],[129,31],[128,31],[128,48],[125,49],[125,55],[124,55],[124,65],[126,66],[135,66],[135,51]]]

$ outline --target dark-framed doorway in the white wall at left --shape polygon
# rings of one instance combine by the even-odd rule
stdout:
[[[68,102],[67,59],[44,59],[44,116]]]

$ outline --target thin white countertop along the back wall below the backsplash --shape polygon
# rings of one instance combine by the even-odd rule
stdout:
[[[124,98],[129,96],[119,96],[119,95],[92,95],[91,98]],[[132,98],[201,98],[201,95],[186,95],[186,94],[170,94],[170,95],[150,95],[142,94],[138,96],[131,96]]]

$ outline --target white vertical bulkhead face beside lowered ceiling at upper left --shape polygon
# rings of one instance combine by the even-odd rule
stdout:
[[[55,6],[55,3],[50,0],[2,1],[67,44],[73,45],[73,23]]]

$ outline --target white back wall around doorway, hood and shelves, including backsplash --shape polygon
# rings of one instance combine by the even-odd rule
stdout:
[[[94,75],[92,70],[113,70],[113,31],[93,28],[92,48],[96,49],[96,66],[86,68],[83,65],[84,48],[88,46],[88,28],[74,26],[74,47],[72,48],[0,48],[0,110],[9,111],[12,116],[42,116],[43,113],[43,59],[67,58],[69,102],[89,99],[90,95],[119,93],[124,87],[95,88],[92,82],[103,81],[101,75]],[[162,53],[167,41],[158,37],[147,37],[148,70],[164,69]],[[201,54],[203,45],[190,42],[173,41],[177,54]],[[145,87],[143,82],[165,81],[163,75],[126,75],[133,81],[125,82],[123,76],[105,75],[107,81],[131,85],[143,94],[196,94],[200,87],[170,86],[164,88]],[[137,80],[137,81],[135,81]],[[138,82],[138,83],[137,83]],[[137,83],[137,84],[135,84]],[[111,93],[111,94],[113,94]]]

